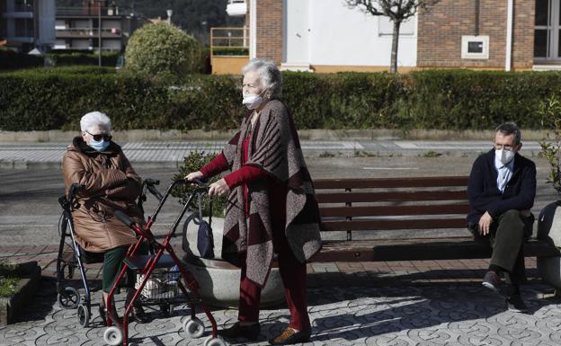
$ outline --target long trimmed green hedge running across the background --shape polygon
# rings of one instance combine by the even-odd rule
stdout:
[[[561,93],[558,72],[428,70],[283,73],[298,129],[540,129],[539,102]],[[77,129],[105,111],[115,129],[236,129],[239,75],[191,75],[181,85],[94,67],[0,74],[0,129]]]

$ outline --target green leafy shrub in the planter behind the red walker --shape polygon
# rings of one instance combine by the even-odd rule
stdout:
[[[183,158],[183,164],[179,167],[179,173],[174,175],[174,179],[183,179],[187,174],[191,172],[197,172],[205,164],[209,164],[212,159],[216,157],[214,154],[205,154],[204,152],[194,151],[191,152],[190,155],[185,156]],[[209,179],[207,182],[211,184],[212,182],[217,182],[221,177],[219,175],[214,176]],[[180,185],[175,188],[172,192],[172,196],[179,198],[179,201],[183,204],[187,201],[187,198],[193,191],[193,187],[190,185]],[[212,216],[214,217],[224,217],[224,208],[226,208],[226,199],[227,196],[220,196],[220,197],[213,197],[212,200]],[[209,196],[205,196],[202,199],[202,209],[203,209],[203,216],[208,217],[209,214]],[[195,204],[196,200],[195,200]]]

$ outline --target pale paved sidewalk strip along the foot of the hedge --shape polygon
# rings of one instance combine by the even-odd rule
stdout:
[[[160,141],[120,143],[130,162],[147,166],[176,167],[191,151],[218,153],[225,141]],[[58,167],[67,143],[0,143],[0,168]],[[368,155],[478,155],[490,141],[348,140],[301,142],[307,156]],[[537,155],[537,142],[524,142],[524,155]]]

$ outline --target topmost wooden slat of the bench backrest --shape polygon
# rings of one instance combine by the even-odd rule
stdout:
[[[316,179],[319,189],[367,189],[402,187],[467,186],[467,176],[378,178],[378,179]]]

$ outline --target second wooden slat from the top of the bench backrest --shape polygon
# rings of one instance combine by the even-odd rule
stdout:
[[[318,203],[467,200],[467,191],[319,192],[316,198]]]

